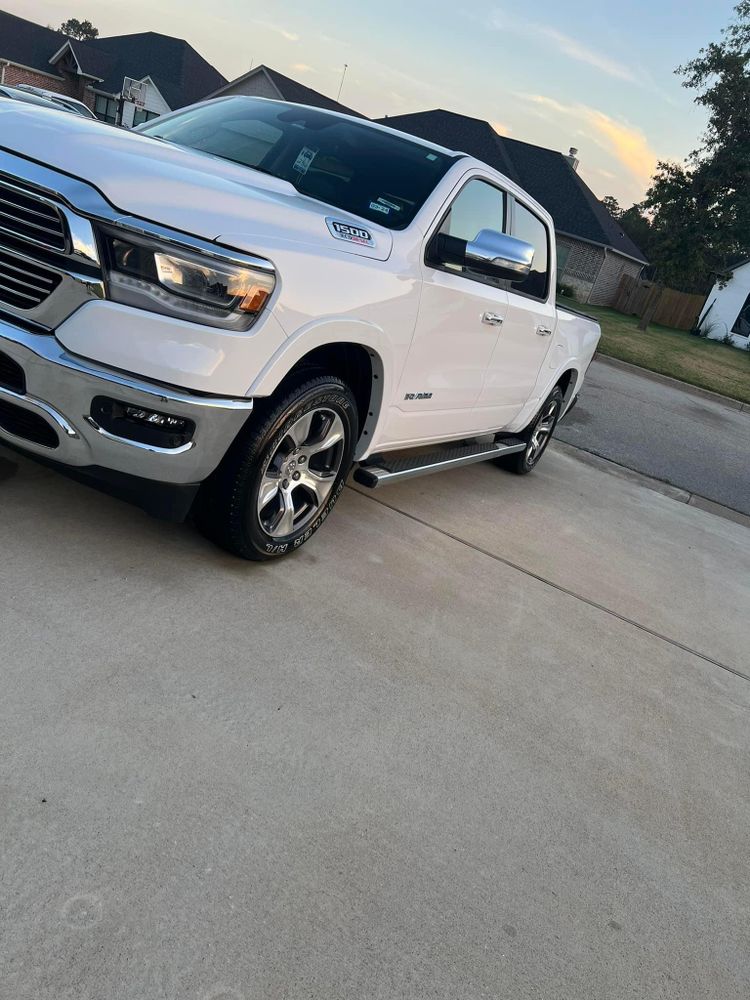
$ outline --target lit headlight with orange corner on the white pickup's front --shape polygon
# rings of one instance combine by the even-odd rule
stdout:
[[[107,286],[115,302],[194,323],[247,330],[263,310],[276,279],[268,269],[139,237],[103,231]]]

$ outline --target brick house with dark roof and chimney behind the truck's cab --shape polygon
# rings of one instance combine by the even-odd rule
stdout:
[[[578,174],[576,150],[565,156],[509,139],[489,122],[452,111],[394,115],[380,122],[476,156],[528,191],[554,220],[557,280],[572,287],[579,302],[610,305],[620,278],[637,277],[648,264]]]

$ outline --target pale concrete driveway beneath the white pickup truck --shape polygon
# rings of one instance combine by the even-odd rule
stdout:
[[[3,998],[747,996],[746,528],[558,450],[255,566],[0,474]]]

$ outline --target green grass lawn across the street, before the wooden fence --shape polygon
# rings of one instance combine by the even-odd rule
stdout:
[[[750,351],[655,323],[650,323],[648,330],[639,330],[636,316],[624,316],[604,306],[575,308],[601,323],[600,354],[750,403]]]

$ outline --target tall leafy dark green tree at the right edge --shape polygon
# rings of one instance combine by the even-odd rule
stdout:
[[[657,165],[644,203],[657,277],[685,291],[750,256],[750,0],[734,11],[721,40],[676,70],[708,125],[684,164]]]

